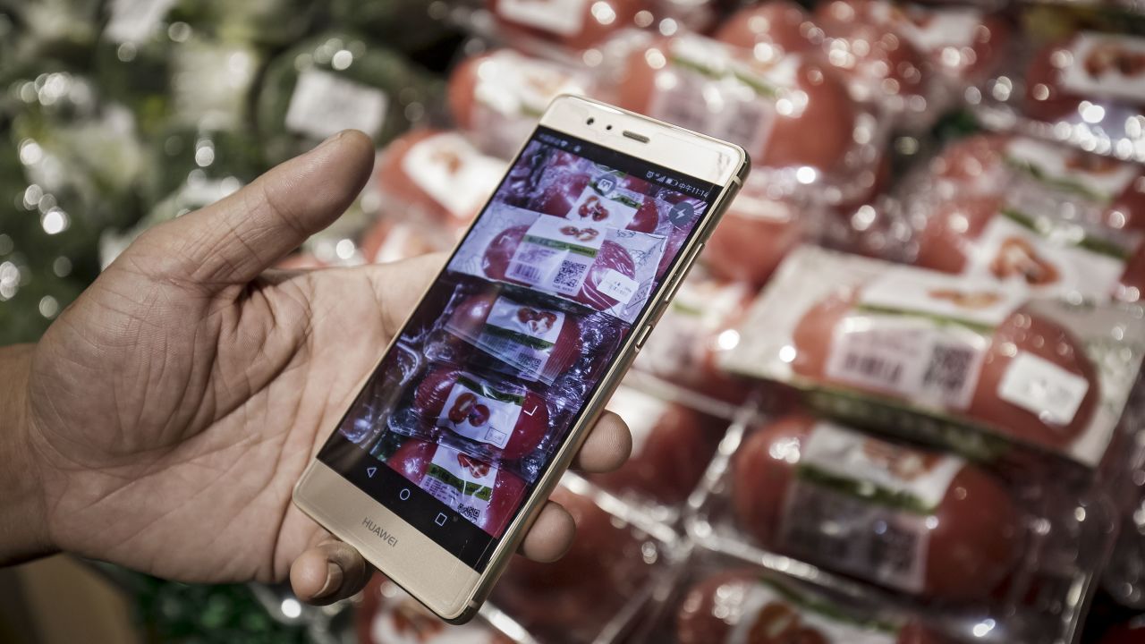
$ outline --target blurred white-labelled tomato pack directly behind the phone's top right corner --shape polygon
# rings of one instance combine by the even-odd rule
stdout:
[[[877,157],[881,134],[870,115],[806,56],[760,58],[684,33],[634,50],[625,69],[622,107],[742,146],[753,175],[768,171],[790,191],[827,184],[847,193],[856,170]]]

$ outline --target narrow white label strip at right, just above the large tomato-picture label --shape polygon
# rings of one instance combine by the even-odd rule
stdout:
[[[1024,136],[1010,141],[1005,158],[1042,184],[1103,204],[1120,196],[1142,172],[1131,163]]]

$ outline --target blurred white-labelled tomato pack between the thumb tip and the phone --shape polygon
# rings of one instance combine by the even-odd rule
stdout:
[[[505,162],[489,157],[457,132],[416,129],[395,139],[374,171],[380,207],[413,221],[429,220],[455,235],[497,189]]]

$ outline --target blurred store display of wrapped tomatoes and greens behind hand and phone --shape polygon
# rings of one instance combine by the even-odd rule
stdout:
[[[753,159],[572,551],[464,628],[117,572],[151,641],[1145,642],[1139,0],[0,0],[0,341],[347,127],[373,179],[282,267],[449,249],[562,93]]]

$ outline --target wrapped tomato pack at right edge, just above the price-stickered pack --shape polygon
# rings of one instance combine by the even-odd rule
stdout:
[[[1021,135],[949,146],[901,186],[907,259],[1041,297],[1137,301],[1143,167]]]

